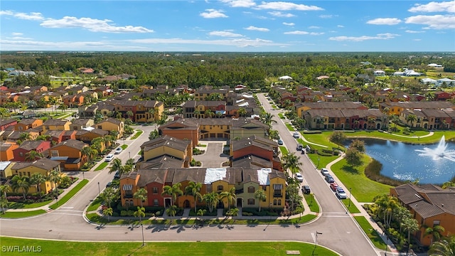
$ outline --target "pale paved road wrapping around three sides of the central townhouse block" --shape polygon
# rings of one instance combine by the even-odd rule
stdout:
[[[263,95],[259,100],[264,102],[265,110],[271,109]],[[275,114],[276,111],[272,112]],[[275,114],[276,115],[276,114]],[[116,155],[122,161],[129,158],[129,152],[134,157],[139,152],[142,142],[148,140],[149,132],[154,126],[141,127],[144,133],[134,140],[127,140],[128,148],[121,154]],[[284,143],[290,151],[295,151],[296,141],[291,137],[282,122],[274,125]],[[122,141],[121,141],[122,142]],[[218,146],[218,145],[216,145]],[[301,225],[296,228],[292,225],[213,225],[204,228],[191,228],[182,225],[171,227],[150,226],[144,227],[144,237],[147,242],[151,241],[248,241],[248,240],[297,240],[315,242],[314,234],[318,236],[318,244],[335,250],[341,255],[378,255],[370,241],[360,231],[353,218],[346,214],[346,209],[333,195],[328,184],[323,181],[319,171],[314,169],[311,161],[305,156],[301,157],[304,164],[302,173],[305,181],[311,186],[316,198],[321,204],[323,213],[312,223]],[[109,174],[108,169],[85,174],[90,182],[82,188],[70,201],[58,210],[50,211],[45,215],[26,218],[21,220],[0,220],[1,235],[9,235],[23,238],[43,238],[55,240],[82,240],[82,241],[141,241],[141,229],[133,230],[127,226],[109,226],[98,228],[97,225],[89,224],[82,218],[82,213],[90,204],[90,200],[98,194],[98,189],[105,188],[114,174]],[[98,185],[98,183],[100,183]]]

